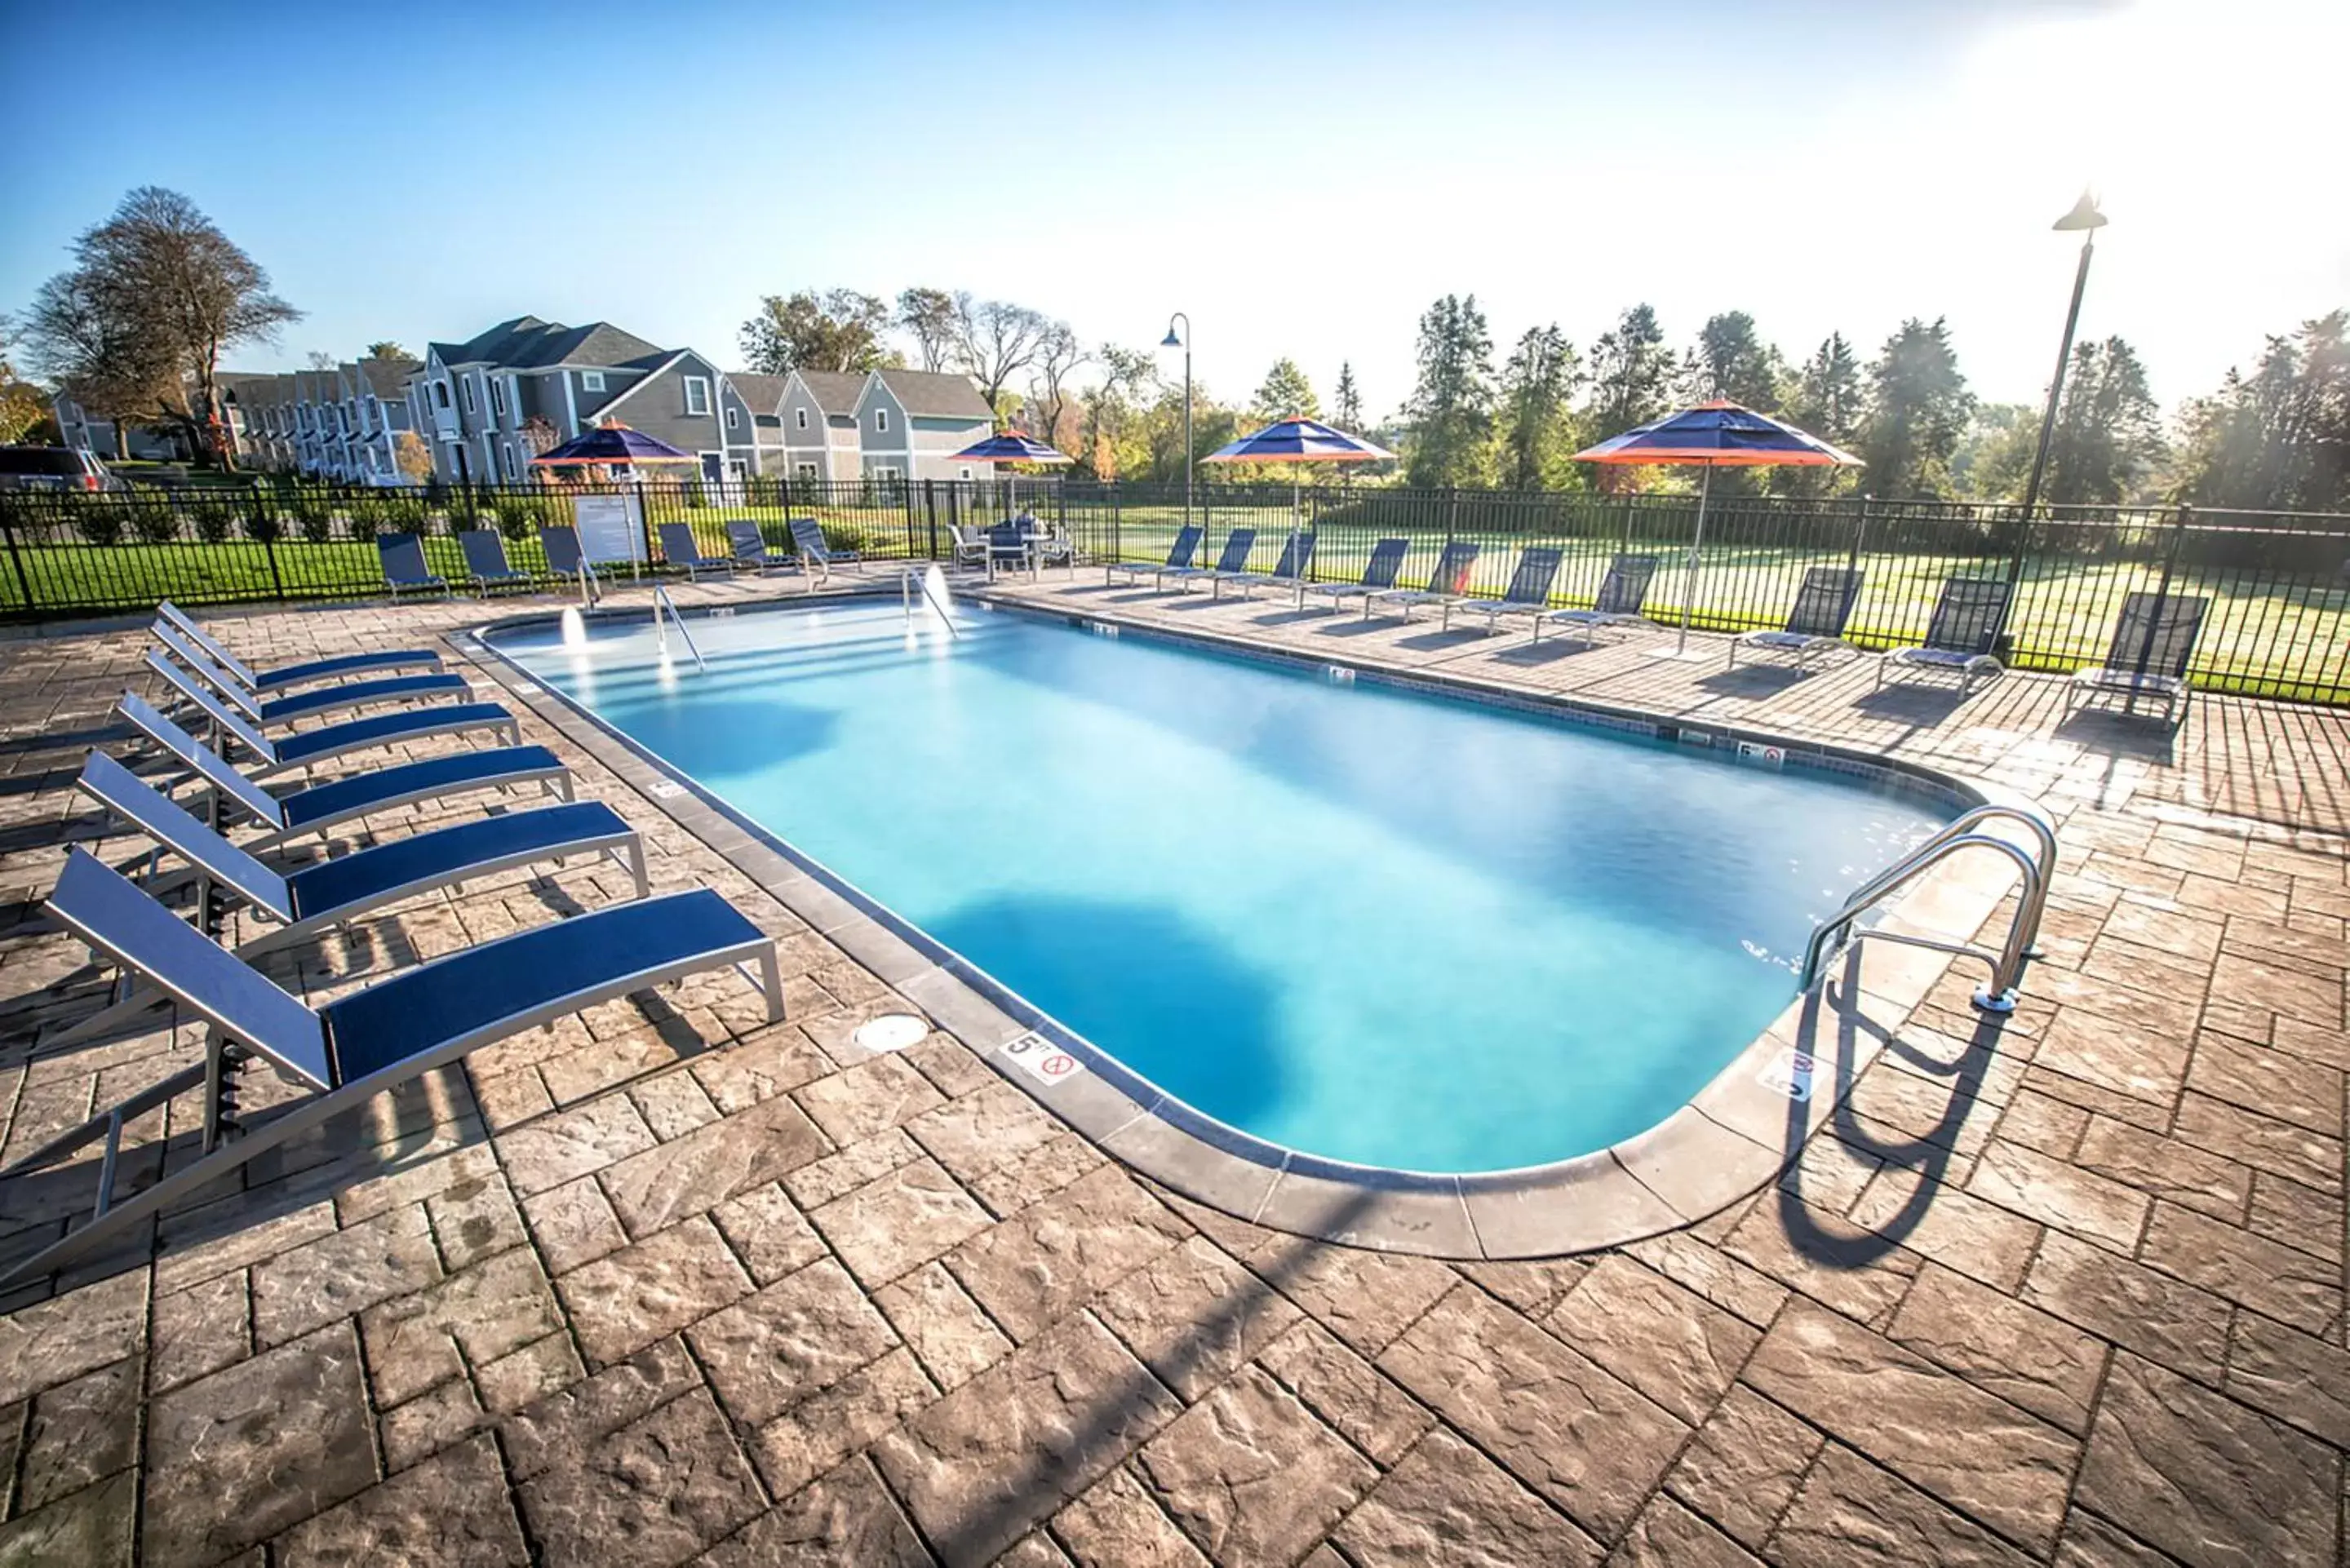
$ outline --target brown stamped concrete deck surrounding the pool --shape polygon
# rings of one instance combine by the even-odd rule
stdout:
[[[790,1018],[733,976],[595,1009],[0,1300],[0,1563],[2343,1561],[2345,715],[2214,698],[2169,736],[2066,722],[2042,677],[1958,703],[1097,571],[1001,592],[1995,780],[2061,823],[2047,957],[2005,1023],[1969,969],[1892,1025],[1845,1009],[1842,1110],[1697,1225],[1525,1262],[1304,1241],[1135,1178],[919,964],[508,691],[656,886],[780,938]],[[207,621],[277,663],[484,618]],[[195,1060],[193,1030],[42,1046],[96,999],[38,900],[70,844],[134,846],[73,773],[122,750],[143,651],[0,639],[0,1159]],[[625,891],[515,872],[270,969],[322,999]],[[886,1011],[940,1027],[860,1051]],[[125,1187],[188,1157],[190,1110],[132,1126]],[[92,1171],[0,1187],[0,1258]]]

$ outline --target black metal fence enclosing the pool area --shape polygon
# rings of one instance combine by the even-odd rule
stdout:
[[[1697,498],[1415,491],[1285,484],[1198,487],[996,482],[801,482],[780,477],[634,487],[646,559],[663,564],[660,524],[686,524],[710,555],[728,524],[757,522],[778,550],[787,520],[815,517],[839,550],[867,559],[952,559],[956,529],[1032,512],[1067,529],[1079,557],[1156,559],[1189,517],[1215,559],[1255,529],[1250,567],[1269,569],[1292,527],[1314,531],[1311,576],[1361,574],[1375,541],[1410,541],[1403,581],[1419,585],[1450,541],[1473,541],[1466,590],[1499,595],[1530,545],[1565,567],[1556,604],[1589,604],[1619,552],[1661,557],[1647,614],[1701,630],[1777,625],[1807,567],[1864,574],[1852,618],[1861,646],[1925,635],[1950,576],[2014,581],[2009,663],[2073,670],[2099,663],[2129,592],[2207,597],[2190,675],[2204,689],[2350,703],[2350,517],[2188,508],[2042,508],[1925,501],[1824,501],[1716,494],[1692,559]],[[545,487],[327,489],[275,487],[127,494],[0,494],[0,616],[66,616],[190,604],[345,599],[383,588],[376,534],[421,534],[432,571],[465,578],[454,538],[494,527],[517,571],[545,581],[538,529],[571,520],[571,494]]]

